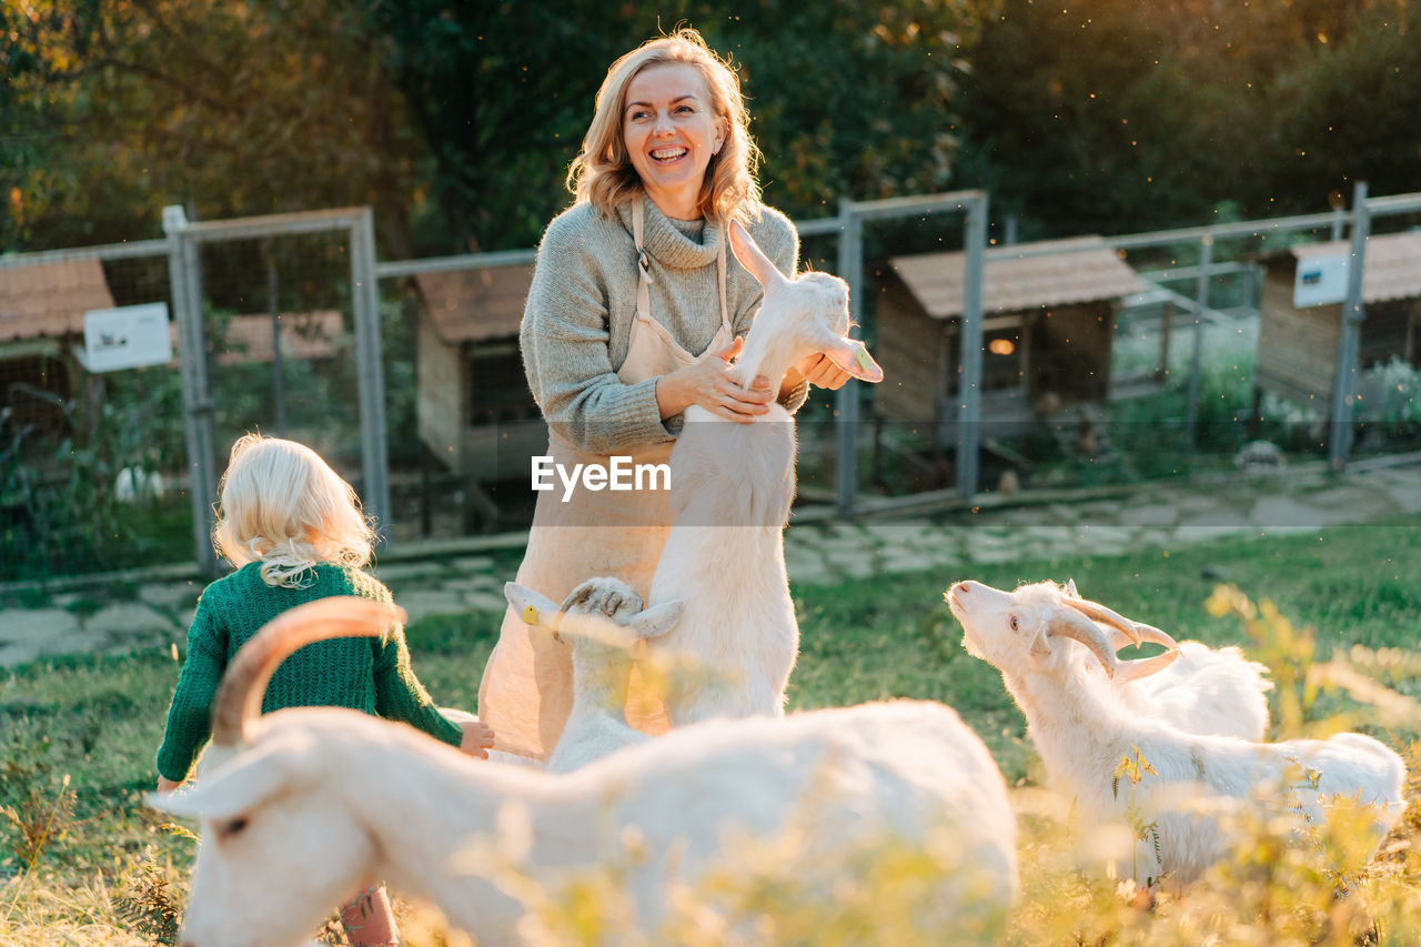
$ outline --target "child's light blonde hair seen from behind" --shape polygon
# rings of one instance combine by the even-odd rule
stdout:
[[[375,532],[355,489],[304,444],[244,435],[219,489],[212,545],[239,569],[261,562],[269,586],[306,584],[318,562],[369,562]]]

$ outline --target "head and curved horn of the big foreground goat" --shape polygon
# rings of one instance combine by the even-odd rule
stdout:
[[[321,765],[328,748],[313,731],[259,727],[256,718],[288,654],[325,638],[381,636],[404,617],[368,599],[320,599],[270,621],[233,658],[213,702],[207,751],[223,759],[205,759],[188,791],[148,796],[152,808],[202,823],[180,944],[306,944],[331,906],[375,872],[369,833],[323,791],[337,779]]]

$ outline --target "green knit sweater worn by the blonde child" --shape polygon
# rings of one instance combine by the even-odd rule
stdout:
[[[269,586],[261,563],[247,563],[207,586],[188,631],[188,658],[178,678],[168,729],[158,749],[158,772],[182,781],[212,734],[212,701],[233,656],[263,624],[291,609],[327,596],[361,596],[392,601],[389,589],[360,569],[317,565],[306,589]],[[445,719],[409,667],[405,631],[369,638],[333,638],[298,650],[277,667],[261,712],[283,707],[350,707],[404,721],[446,744],[459,745],[463,731]]]

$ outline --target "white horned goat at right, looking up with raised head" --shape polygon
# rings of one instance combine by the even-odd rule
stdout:
[[[1231,842],[1205,808],[1265,802],[1317,823],[1337,798],[1373,806],[1373,842],[1380,843],[1404,808],[1401,758],[1360,734],[1329,739],[1259,744],[1235,737],[1189,734],[1125,707],[1098,675],[1084,671],[1083,651],[1111,678],[1141,661],[1120,661],[1108,637],[1081,603],[1053,583],[1006,593],[978,582],[948,590],[968,651],[1002,671],[1026,715],[1053,786],[1073,798],[1090,820],[1120,819],[1128,793],[1115,798],[1113,769],[1138,752],[1157,776],[1133,788],[1138,818],[1155,823],[1155,847],[1138,842],[1137,882],[1167,876],[1181,884],[1222,857]],[[1155,658],[1145,658],[1151,661]]]

